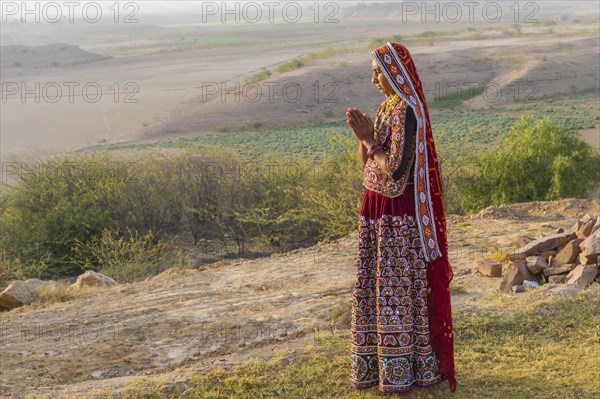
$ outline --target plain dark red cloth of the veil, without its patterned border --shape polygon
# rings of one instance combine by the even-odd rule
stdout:
[[[408,49],[399,43],[390,43],[406,68],[417,95],[423,104],[426,123],[427,167],[429,169],[430,196],[436,224],[438,245],[442,256],[428,263],[427,280],[431,291],[428,294],[429,330],[431,345],[440,360],[440,372],[448,377],[450,391],[456,391],[454,370],[454,332],[452,326],[452,306],[450,302],[450,281],[454,277],[448,261],[448,242],[446,237],[446,213],[440,178],[437,153],[431,132],[429,112],[421,79]],[[412,188],[408,195],[412,197]],[[414,202],[413,202],[414,203]]]

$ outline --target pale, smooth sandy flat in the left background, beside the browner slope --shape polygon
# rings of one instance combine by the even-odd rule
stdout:
[[[33,89],[38,102],[33,95],[22,101],[23,91],[19,89],[2,104],[0,156],[7,159],[12,154],[32,154],[46,158],[54,152],[119,140],[144,125],[163,123],[200,94],[203,82],[222,80],[219,65],[231,64],[243,54],[243,49],[232,50],[234,53],[222,55],[198,51],[175,60],[168,54],[115,58],[14,79],[19,87],[23,84]],[[301,53],[292,50],[253,55],[230,68],[229,73],[232,78],[243,76]],[[5,84],[9,81],[12,79],[5,79]],[[73,95],[68,82],[74,82]],[[35,90],[36,83],[39,90]],[[85,85],[89,85],[88,91],[84,91]],[[59,93],[56,102],[42,100],[44,87],[49,88],[47,96]],[[51,87],[60,91],[51,91]]]

